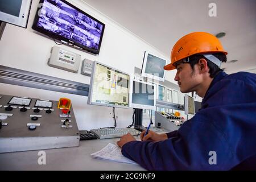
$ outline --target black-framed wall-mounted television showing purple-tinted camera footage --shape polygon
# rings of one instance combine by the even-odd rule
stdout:
[[[64,0],[40,0],[32,29],[69,46],[100,52],[105,24]]]

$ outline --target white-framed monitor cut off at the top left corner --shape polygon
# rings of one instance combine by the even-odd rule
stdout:
[[[27,28],[32,0],[0,0],[0,21]]]

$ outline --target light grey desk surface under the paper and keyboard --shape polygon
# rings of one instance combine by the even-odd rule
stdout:
[[[46,165],[38,164],[40,150],[0,154],[0,170],[145,170],[137,164],[111,162],[90,156],[108,143],[115,144],[118,140],[119,138],[81,140],[79,147],[43,150],[46,152]]]

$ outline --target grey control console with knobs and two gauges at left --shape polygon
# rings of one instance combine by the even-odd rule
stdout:
[[[72,105],[58,101],[0,94],[0,153],[79,146]]]

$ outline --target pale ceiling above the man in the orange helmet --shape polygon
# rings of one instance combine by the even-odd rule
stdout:
[[[222,64],[226,72],[256,73],[255,0],[82,0],[122,27],[170,56],[174,44],[189,32],[206,31],[220,38],[228,51]],[[216,3],[217,16],[210,17],[209,3]]]

